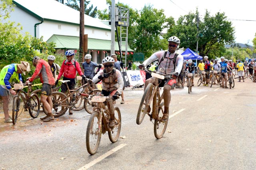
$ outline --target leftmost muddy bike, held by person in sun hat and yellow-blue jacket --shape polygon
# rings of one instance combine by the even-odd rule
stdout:
[[[14,84],[14,89],[16,90],[17,95],[13,98],[12,104],[12,124],[15,125],[18,117],[20,116],[18,113],[20,111],[20,99],[23,101],[24,105],[22,106],[23,111],[28,111],[32,118],[36,118],[39,115],[40,111],[40,101],[37,94],[30,94],[32,91],[32,83],[28,83],[28,91],[24,91],[25,84]],[[25,86],[26,87],[26,86]]]

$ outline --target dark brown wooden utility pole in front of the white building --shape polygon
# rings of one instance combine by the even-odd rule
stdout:
[[[84,48],[84,0],[80,0],[79,61],[82,61],[82,62],[84,62],[83,48]]]

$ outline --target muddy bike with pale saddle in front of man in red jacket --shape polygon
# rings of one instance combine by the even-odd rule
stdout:
[[[54,117],[60,117],[62,115],[64,115],[66,113],[66,111],[70,108],[73,111],[78,111],[81,110],[84,107],[86,107],[86,111],[92,111],[93,107],[88,107],[87,103],[90,102],[90,100],[85,99],[86,101],[84,101],[84,105],[82,105],[82,100],[84,99],[84,97],[82,97],[80,94],[81,93],[86,93],[87,88],[90,87],[90,82],[92,81],[91,79],[87,79],[86,81],[87,83],[85,83],[84,85],[82,85],[81,87],[78,87],[74,90],[70,90],[68,88],[68,82],[69,80],[60,80],[60,82],[64,83],[67,87],[67,95],[65,93],[59,92],[59,91],[55,91],[52,92],[52,109],[54,111],[52,111],[52,115]],[[101,90],[99,89],[90,89],[88,90],[88,94],[89,95],[95,95],[97,92],[101,92]],[[91,103],[90,105],[92,105],[93,103]],[[44,109],[44,106],[43,106]],[[47,113],[47,111],[44,109],[44,113]]]

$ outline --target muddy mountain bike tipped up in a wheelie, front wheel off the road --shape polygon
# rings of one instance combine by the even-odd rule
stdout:
[[[158,79],[172,79],[176,82],[175,79],[172,78],[171,75],[166,75],[162,73],[154,73],[148,69],[145,69],[148,73],[151,73],[152,79],[154,82],[158,82]],[[149,83],[146,89],[144,90],[144,94],[140,101],[140,106],[137,113],[136,123],[140,125],[147,114],[150,117],[150,121],[153,123],[154,119],[154,135],[156,138],[162,138],[164,132],[166,130],[168,119],[165,122],[162,122],[162,116],[164,115],[164,102],[162,99],[164,97],[164,93],[160,95],[160,89],[158,87],[158,83],[153,84]],[[150,113],[150,106],[152,108],[152,113]]]

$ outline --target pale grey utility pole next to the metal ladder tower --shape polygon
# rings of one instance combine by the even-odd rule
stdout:
[[[115,53],[115,24],[116,23],[116,2],[112,0],[111,4],[111,51],[110,55]]]

